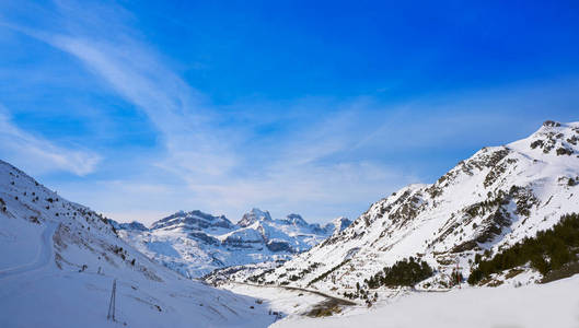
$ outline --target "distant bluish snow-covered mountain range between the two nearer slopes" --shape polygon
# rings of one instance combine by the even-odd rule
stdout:
[[[138,222],[112,224],[119,235],[150,258],[195,278],[216,269],[290,259],[351,222],[338,218],[323,226],[299,214],[275,220],[253,209],[233,224],[225,216],[201,211],[177,212],[146,229]]]

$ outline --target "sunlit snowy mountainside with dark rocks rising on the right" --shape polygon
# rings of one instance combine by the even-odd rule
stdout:
[[[377,201],[282,266],[232,278],[343,293],[412,256],[435,268],[420,288],[447,288],[453,270],[468,276],[475,255],[496,254],[579,212],[578,142],[579,122],[545,121],[526,139],[482,149],[431,185],[410,185]],[[511,281],[540,278],[529,269]]]

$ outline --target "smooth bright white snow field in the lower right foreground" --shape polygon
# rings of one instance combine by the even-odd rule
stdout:
[[[577,328],[579,276],[522,288],[473,288],[412,293],[372,308],[350,308],[327,318],[290,316],[271,327]]]

